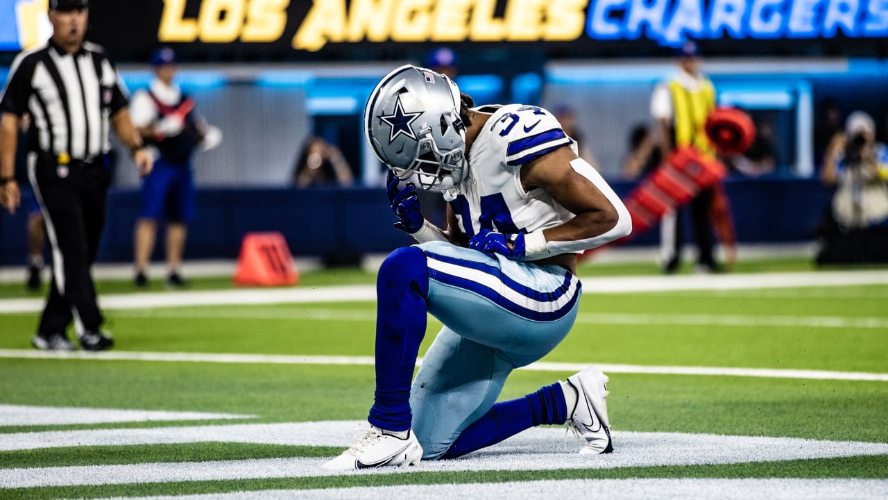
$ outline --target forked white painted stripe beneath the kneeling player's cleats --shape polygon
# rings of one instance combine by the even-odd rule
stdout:
[[[365,423],[362,423],[366,425]],[[315,422],[279,424],[235,424],[231,426],[174,427],[168,429],[121,429],[135,440],[146,443],[147,431],[167,432],[163,442],[286,442],[309,446],[347,447],[353,443],[353,429],[361,422]],[[255,427],[256,431],[247,431]],[[84,442],[110,444],[100,436],[109,431],[71,431]],[[30,439],[28,434],[0,435],[4,440]],[[55,434],[64,434],[57,432]],[[200,440],[200,438],[203,438]],[[255,437],[257,440],[248,440]],[[184,440],[184,441],[183,441]],[[318,444],[319,441],[322,444]],[[47,441],[49,442],[49,441]],[[150,441],[149,441],[150,442]],[[311,444],[310,444],[311,443]],[[491,448],[440,462],[423,462],[416,467],[366,469],[355,472],[324,471],[324,458],[267,458],[200,463],[154,463],[88,465],[0,470],[0,488],[35,488],[76,485],[130,484],[170,481],[239,480],[260,478],[305,478],[343,474],[392,474],[410,472],[463,471],[548,471],[560,469],[613,469],[618,467],[741,464],[786,460],[836,458],[841,456],[888,455],[888,443],[823,441],[759,436],[722,436],[669,432],[614,432],[610,455],[583,456],[580,444],[565,442],[561,427],[524,431]],[[265,497],[265,496],[263,496]]]

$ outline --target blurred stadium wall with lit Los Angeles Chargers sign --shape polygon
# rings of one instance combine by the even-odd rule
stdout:
[[[48,36],[45,4],[0,1],[4,80],[15,54]],[[442,45],[456,50],[457,82],[476,101],[570,103],[602,173],[627,192],[631,184],[617,174],[628,133],[649,121],[649,94],[682,37],[699,40],[720,103],[778,128],[777,172],[726,184],[741,243],[810,241],[829,200],[815,178],[819,103],[834,98],[844,115],[865,109],[881,134],[888,125],[884,2],[92,0],[88,36],[107,48],[131,90],[151,77],[148,53],[173,46],[179,81],[225,134],[218,149],[196,157],[199,209],[186,259],[233,258],[256,230],[280,230],[297,255],[378,253],[408,242],[390,230],[382,167],[365,149],[360,115],[378,77]],[[289,186],[312,134],[340,145],[360,186]],[[139,180],[119,157],[102,262],[131,260]],[[0,218],[0,265],[25,261],[24,225],[22,212]]]

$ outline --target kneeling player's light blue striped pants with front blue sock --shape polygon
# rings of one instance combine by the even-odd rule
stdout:
[[[513,369],[543,358],[564,339],[581,294],[579,280],[555,265],[445,242],[396,250],[377,283],[377,394],[370,423],[393,431],[412,424],[424,459],[444,456],[491,410]],[[444,327],[408,386],[426,312]]]

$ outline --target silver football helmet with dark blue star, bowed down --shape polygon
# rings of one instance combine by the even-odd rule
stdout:
[[[364,134],[402,181],[449,190],[463,181],[465,125],[459,87],[432,69],[406,65],[379,81],[364,109]]]

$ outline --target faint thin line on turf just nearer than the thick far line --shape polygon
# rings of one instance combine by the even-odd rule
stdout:
[[[299,321],[375,322],[375,310],[257,310],[256,308],[216,308],[213,310],[170,308],[162,310],[119,310],[115,318],[191,318],[256,319]],[[432,316],[432,321],[437,321]],[[751,316],[741,314],[622,314],[581,313],[577,323],[586,325],[718,325],[722,327],[802,327],[802,328],[877,328],[888,330],[888,318],[845,318],[841,316]],[[440,323],[440,322],[439,322]]]

